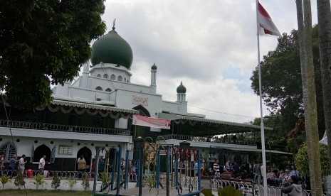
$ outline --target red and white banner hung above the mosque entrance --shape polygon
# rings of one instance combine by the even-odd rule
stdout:
[[[155,119],[148,116],[133,115],[132,124],[161,128],[161,129],[170,129],[170,120]]]

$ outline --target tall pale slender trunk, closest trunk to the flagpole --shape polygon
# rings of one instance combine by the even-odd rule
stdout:
[[[297,0],[300,67],[303,82],[303,107],[308,148],[308,163],[312,195],[322,195],[320,150],[318,144],[315,73],[312,62],[312,16],[310,1]]]

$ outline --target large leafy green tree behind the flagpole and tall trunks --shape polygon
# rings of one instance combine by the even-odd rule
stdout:
[[[318,43],[318,26],[313,26],[312,55],[315,65],[317,124],[320,130],[320,137],[322,137],[325,123]],[[288,138],[286,148],[288,151],[295,153],[298,151],[300,144],[305,141],[305,126],[302,126],[304,110],[298,30],[291,31],[289,35],[283,33],[283,36],[278,38],[278,45],[275,50],[270,51],[263,57],[263,61],[261,61],[261,77],[263,102],[269,107],[270,116],[278,116],[277,124],[268,126],[280,131],[279,133],[282,133],[280,135]],[[253,70],[251,81],[253,91],[259,94],[258,67]]]

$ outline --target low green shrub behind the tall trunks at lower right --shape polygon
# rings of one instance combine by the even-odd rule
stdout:
[[[309,163],[308,163],[308,146],[303,143],[300,146],[298,153],[295,155],[295,166],[299,172],[304,176],[309,176]],[[320,144],[320,163],[322,176],[330,175],[329,157],[327,156],[327,146]]]

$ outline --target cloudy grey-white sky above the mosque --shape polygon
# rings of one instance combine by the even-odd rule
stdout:
[[[260,2],[280,33],[297,28],[295,0]],[[258,64],[255,0],[107,0],[105,6],[107,31],[116,18],[117,33],[133,50],[132,83],[149,85],[155,63],[164,100],[176,101],[182,81],[189,112],[236,122],[260,116],[250,80]],[[277,37],[261,36],[260,43],[262,60]]]

